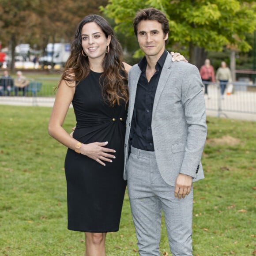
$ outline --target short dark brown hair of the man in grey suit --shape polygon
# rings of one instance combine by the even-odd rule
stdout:
[[[169,20],[166,15],[155,8],[146,8],[137,12],[133,20],[133,28],[136,37],[138,37],[138,24],[143,20],[156,20],[162,25],[164,35],[169,33]],[[166,39],[166,45],[168,44],[168,38]]]

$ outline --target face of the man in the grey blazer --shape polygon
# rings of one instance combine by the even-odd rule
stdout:
[[[158,59],[165,50],[165,40],[162,24],[156,20],[142,20],[138,24],[138,42],[146,56],[156,56]]]

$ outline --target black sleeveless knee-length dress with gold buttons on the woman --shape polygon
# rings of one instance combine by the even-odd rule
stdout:
[[[118,231],[126,181],[124,134],[127,111],[123,105],[110,107],[102,97],[102,73],[90,72],[75,88],[72,101],[76,128],[73,137],[88,144],[108,141],[116,158],[102,166],[68,149],[65,174],[68,193],[68,229],[105,233]]]

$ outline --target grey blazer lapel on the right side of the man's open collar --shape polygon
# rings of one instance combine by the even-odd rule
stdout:
[[[152,119],[154,117],[154,113],[156,111],[156,107],[159,101],[159,98],[162,94],[162,90],[166,86],[167,79],[171,73],[171,64],[172,64],[172,56],[168,53],[166,57],[166,61],[164,63],[164,66],[162,68],[162,72],[159,78],[158,86],[155,92],[154,96],[154,104],[153,104],[153,110],[152,110]]]

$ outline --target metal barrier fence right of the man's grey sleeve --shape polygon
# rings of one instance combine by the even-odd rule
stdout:
[[[219,83],[207,83],[208,96],[205,94],[206,109],[223,112],[256,113],[256,84],[244,82],[228,83],[222,96]]]

